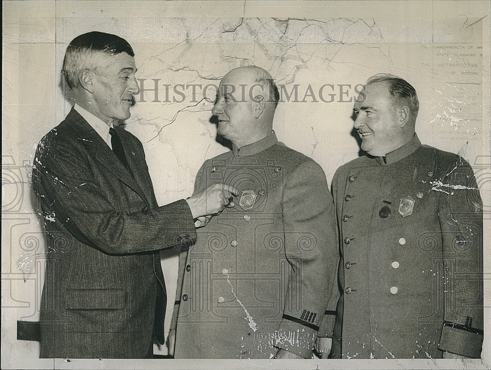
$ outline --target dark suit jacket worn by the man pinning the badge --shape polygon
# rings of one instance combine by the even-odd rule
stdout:
[[[188,204],[158,207],[143,147],[116,128],[128,171],[74,109],[39,143],[47,233],[41,357],[143,358],[164,343],[159,249],[196,238]]]

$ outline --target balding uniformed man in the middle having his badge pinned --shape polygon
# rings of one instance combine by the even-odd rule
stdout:
[[[181,254],[176,358],[311,357],[335,281],[335,215],[322,168],[272,131],[278,100],[255,66],[220,81],[212,112],[233,149],[204,162],[195,191],[226,181],[240,195]]]

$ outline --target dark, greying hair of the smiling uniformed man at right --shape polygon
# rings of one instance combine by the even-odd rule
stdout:
[[[376,82],[387,82],[389,93],[394,99],[394,106],[408,106],[411,114],[416,118],[419,111],[418,96],[408,81],[388,73],[379,73],[367,79],[365,85]]]

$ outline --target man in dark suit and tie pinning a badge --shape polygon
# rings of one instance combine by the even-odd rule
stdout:
[[[189,247],[194,220],[220,212],[233,191],[219,184],[158,206],[141,143],[114,126],[130,117],[135,72],[115,35],[86,33],[66,50],[75,106],[33,165],[48,243],[41,357],[152,357],[153,341],[164,343],[159,249]]]

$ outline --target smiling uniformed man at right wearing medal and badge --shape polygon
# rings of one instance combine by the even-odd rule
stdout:
[[[341,291],[334,332],[319,333],[333,335],[332,358],[480,357],[482,201],[463,158],[421,145],[418,108],[392,75],[368,79],[355,103],[367,154],[332,183]],[[330,339],[318,342],[326,357]]]

